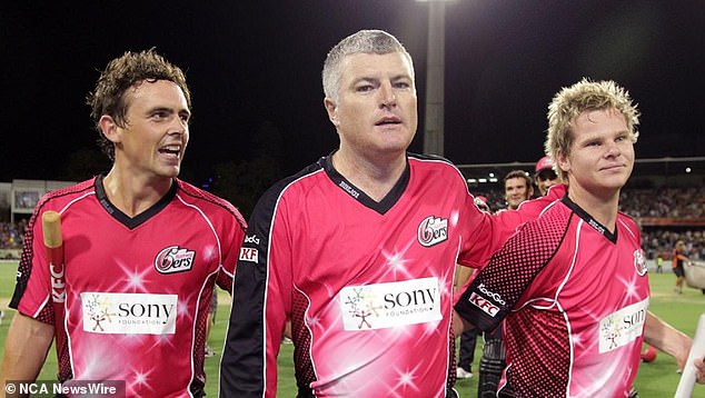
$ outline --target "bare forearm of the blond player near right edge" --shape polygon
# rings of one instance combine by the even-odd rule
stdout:
[[[652,311],[646,312],[644,341],[676,358],[678,369],[683,369],[685,367],[685,361],[688,359],[691,346],[693,345],[692,338],[666,324],[664,320],[652,314]],[[702,378],[698,378],[698,380],[701,379]]]

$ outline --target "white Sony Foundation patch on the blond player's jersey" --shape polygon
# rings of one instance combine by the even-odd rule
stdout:
[[[599,352],[626,346],[642,336],[648,299],[624,307],[599,320]]]

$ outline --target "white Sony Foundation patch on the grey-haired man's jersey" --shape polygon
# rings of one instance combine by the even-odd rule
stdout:
[[[371,330],[443,319],[438,278],[345,287],[338,293],[345,330]]]

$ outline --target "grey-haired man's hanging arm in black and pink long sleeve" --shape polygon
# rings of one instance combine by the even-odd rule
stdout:
[[[277,258],[290,257],[286,255],[286,232],[278,228],[279,222],[271,227],[276,199],[271,193],[260,198],[240,248],[220,362],[219,394],[224,398],[276,396],[277,356],[288,315],[282,300],[290,297],[277,262]]]

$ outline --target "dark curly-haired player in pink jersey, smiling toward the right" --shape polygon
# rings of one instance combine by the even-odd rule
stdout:
[[[191,118],[178,67],[153,50],[126,52],[88,105],[112,168],[37,205],[0,379],[34,380],[64,329],[56,347],[63,386],[121,380],[129,397],[202,397],[210,297],[216,283],[231,289],[246,223],[228,201],[178,179]],[[66,317],[51,305],[48,210],[61,217]]]

